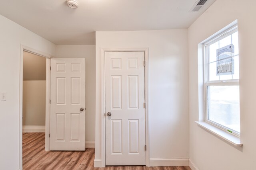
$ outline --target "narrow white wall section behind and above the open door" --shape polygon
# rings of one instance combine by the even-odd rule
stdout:
[[[95,143],[95,45],[57,45],[56,58],[86,59],[86,147]]]

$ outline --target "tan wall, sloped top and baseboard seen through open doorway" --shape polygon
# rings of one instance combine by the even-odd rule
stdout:
[[[22,132],[45,132],[46,58],[23,52]]]

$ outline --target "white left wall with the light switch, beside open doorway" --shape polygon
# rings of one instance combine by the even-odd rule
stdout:
[[[0,169],[18,170],[20,47],[55,55],[55,45],[3,16],[0,25],[0,92],[7,92],[0,102]]]

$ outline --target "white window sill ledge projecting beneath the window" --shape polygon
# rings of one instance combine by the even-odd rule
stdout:
[[[210,125],[209,123],[206,123],[205,121],[195,121],[199,126],[203,127],[204,129],[214,133],[218,137],[232,143],[235,146],[242,146],[243,144],[240,142],[240,138],[236,137],[232,134],[229,134],[228,132],[225,132],[218,127],[215,127],[213,125]]]

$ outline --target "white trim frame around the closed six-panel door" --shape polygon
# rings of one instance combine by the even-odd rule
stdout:
[[[105,52],[127,52],[127,51],[143,51],[145,57],[145,137],[146,137],[146,166],[150,166],[150,143],[149,143],[149,117],[148,117],[148,48],[102,48],[101,49],[101,167],[106,166],[106,138],[105,138]],[[94,161],[95,163],[99,163],[98,161]],[[97,164],[98,166],[98,164]]]

